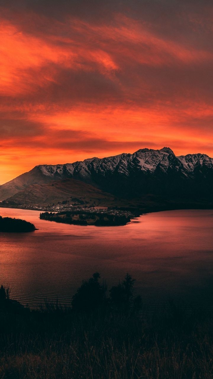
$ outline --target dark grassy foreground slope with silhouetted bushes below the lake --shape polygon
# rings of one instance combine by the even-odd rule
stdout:
[[[18,306],[0,289],[0,377],[4,379],[212,379],[213,319],[178,310],[144,316],[134,280],[111,288],[98,273],[72,309]]]

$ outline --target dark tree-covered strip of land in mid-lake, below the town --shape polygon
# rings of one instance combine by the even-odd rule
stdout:
[[[131,221],[128,212],[116,211],[62,211],[40,213],[40,219],[74,225],[119,226]]]

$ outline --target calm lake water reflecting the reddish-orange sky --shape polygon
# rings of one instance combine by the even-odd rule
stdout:
[[[126,226],[57,224],[38,211],[0,208],[33,222],[32,233],[0,233],[0,283],[35,307],[69,304],[81,280],[99,271],[109,287],[130,273],[145,303],[168,296],[213,303],[213,210],[150,213]]]

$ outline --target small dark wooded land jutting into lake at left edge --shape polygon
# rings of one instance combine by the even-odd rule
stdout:
[[[0,232],[33,232],[36,227],[31,222],[20,218],[0,216]]]

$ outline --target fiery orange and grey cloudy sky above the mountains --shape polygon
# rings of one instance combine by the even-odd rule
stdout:
[[[213,3],[1,0],[0,184],[169,146],[213,157]]]

